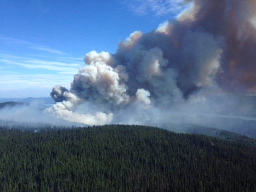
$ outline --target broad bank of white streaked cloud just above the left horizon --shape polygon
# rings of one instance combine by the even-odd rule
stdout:
[[[70,87],[83,58],[34,58],[0,53],[0,98],[19,94],[19,97],[49,96],[58,84]],[[42,95],[41,95],[42,94]]]

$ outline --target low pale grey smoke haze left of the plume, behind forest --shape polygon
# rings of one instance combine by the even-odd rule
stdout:
[[[27,102],[0,103],[0,126],[24,129],[51,126],[82,126],[82,124],[64,121],[44,113],[44,110],[47,108],[45,102],[49,100],[44,100],[44,98],[41,98],[42,100],[40,98],[31,99],[24,99]],[[49,105],[52,106],[52,104]]]

